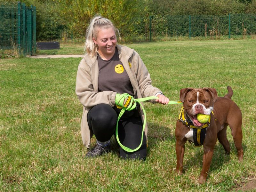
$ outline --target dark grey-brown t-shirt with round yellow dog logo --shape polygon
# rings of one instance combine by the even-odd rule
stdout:
[[[99,92],[114,91],[120,94],[128,93],[134,97],[131,81],[119,59],[117,48],[110,60],[103,60],[99,55],[97,59],[99,64]]]

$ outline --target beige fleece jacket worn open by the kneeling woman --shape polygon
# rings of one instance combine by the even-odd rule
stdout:
[[[138,98],[155,96],[161,92],[151,85],[150,74],[145,64],[141,60],[139,54],[133,49],[126,46],[116,45],[120,61],[130,78],[133,92],[137,91]],[[83,115],[81,121],[81,135],[85,147],[90,147],[90,140],[93,133],[90,132],[87,122],[87,113],[95,105],[105,103],[114,107],[116,92],[98,91],[99,67],[97,56],[90,57],[86,54],[81,60],[76,76],[76,95],[83,107]],[[151,100],[150,102],[154,102]],[[144,114],[141,110],[141,119],[144,120]],[[145,134],[147,137],[148,127],[145,126]]]

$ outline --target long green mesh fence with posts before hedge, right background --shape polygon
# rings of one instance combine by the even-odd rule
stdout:
[[[256,34],[255,14],[168,15],[149,17],[152,36],[245,36]]]

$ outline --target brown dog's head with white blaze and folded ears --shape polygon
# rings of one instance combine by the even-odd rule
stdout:
[[[218,94],[214,88],[184,88],[180,90],[180,100],[183,102],[184,110],[196,127],[202,126],[196,115],[198,113],[210,115],[213,103],[217,98]]]

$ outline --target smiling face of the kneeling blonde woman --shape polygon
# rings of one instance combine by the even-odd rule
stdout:
[[[109,60],[115,54],[117,40],[113,28],[100,29],[97,39],[93,37],[92,40],[98,45],[98,52],[102,59]]]

